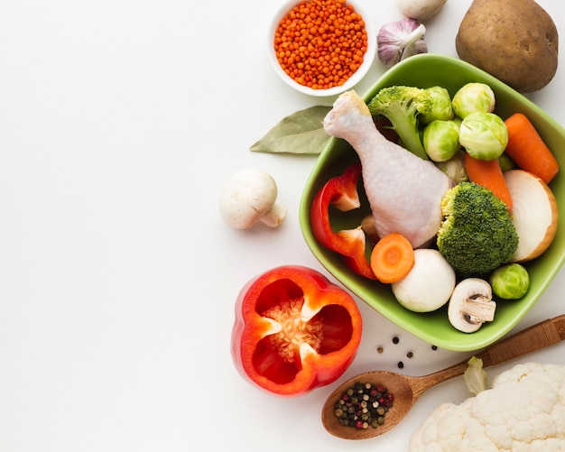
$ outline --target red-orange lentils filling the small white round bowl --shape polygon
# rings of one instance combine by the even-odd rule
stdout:
[[[367,42],[365,21],[346,0],[302,0],[279,23],[274,51],[297,83],[328,89],[359,69]]]

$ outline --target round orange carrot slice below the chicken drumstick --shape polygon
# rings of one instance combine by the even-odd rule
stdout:
[[[402,280],[414,265],[414,250],[402,234],[384,235],[373,248],[370,259],[376,279],[391,283]]]

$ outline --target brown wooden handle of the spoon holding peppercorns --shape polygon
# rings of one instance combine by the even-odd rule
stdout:
[[[565,339],[565,314],[548,318],[501,339],[475,356],[483,360],[483,367],[487,367],[558,344],[562,339]],[[417,398],[431,386],[464,374],[467,366],[468,359],[433,374],[412,377],[414,396]]]

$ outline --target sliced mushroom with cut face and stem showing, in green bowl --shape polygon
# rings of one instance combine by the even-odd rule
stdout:
[[[458,282],[448,306],[449,322],[463,333],[474,333],[495,319],[496,301],[488,281],[467,278]]]

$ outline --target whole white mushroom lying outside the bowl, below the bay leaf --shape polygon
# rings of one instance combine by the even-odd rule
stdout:
[[[219,210],[229,226],[247,229],[261,221],[276,227],[286,216],[286,208],[277,202],[278,189],[265,171],[245,169],[236,172],[222,189]]]

